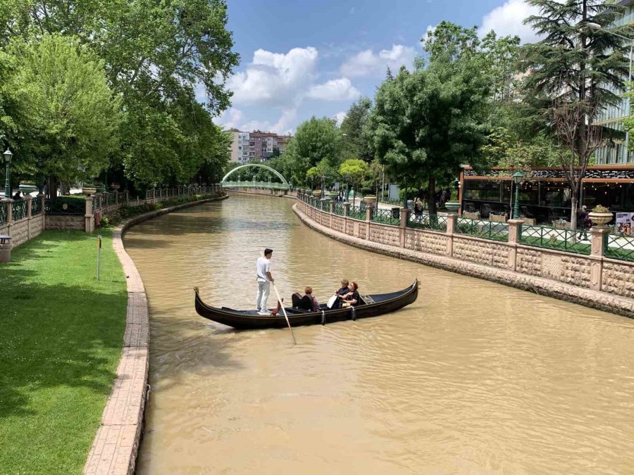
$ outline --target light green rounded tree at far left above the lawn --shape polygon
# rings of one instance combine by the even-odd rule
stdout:
[[[6,110],[0,122],[18,173],[34,175],[42,161],[56,180],[99,175],[120,145],[122,120],[103,61],[77,39],[56,34],[31,43],[13,39],[1,58]]]

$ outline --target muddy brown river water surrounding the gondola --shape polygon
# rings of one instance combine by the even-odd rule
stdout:
[[[151,314],[138,474],[634,473],[634,321],[346,246],[291,205],[232,197],[125,236]],[[421,292],[297,346],[199,317],[193,286],[254,308],[265,246],[287,297]]]

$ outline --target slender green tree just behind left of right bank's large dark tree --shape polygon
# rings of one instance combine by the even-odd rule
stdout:
[[[370,162],[374,157],[372,148],[363,133],[368,124],[372,101],[367,97],[361,97],[354,101],[344,120],[341,122],[341,158],[359,158]]]

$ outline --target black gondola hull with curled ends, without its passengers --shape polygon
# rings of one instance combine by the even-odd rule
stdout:
[[[273,317],[258,315],[257,310],[233,310],[227,307],[211,307],[211,305],[207,305],[200,298],[198,287],[194,287],[194,292],[196,294],[195,305],[198,315],[214,322],[240,330],[282,328],[287,326],[282,310]],[[361,300],[363,301],[354,307],[330,310],[326,305],[320,305],[320,309],[317,312],[286,306],[285,309],[292,327],[302,327],[303,325],[378,317],[378,315],[394,312],[394,310],[399,310],[399,308],[414,303],[416,298],[418,298],[418,279],[414,281],[414,284],[402,291],[362,295]]]

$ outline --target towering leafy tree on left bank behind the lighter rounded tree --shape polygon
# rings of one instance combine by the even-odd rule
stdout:
[[[58,33],[92,48],[126,112],[114,165],[136,182],[179,182],[205,163],[209,143],[192,131],[211,137],[209,119],[230,103],[239,57],[226,23],[224,0],[4,0],[0,46]]]

